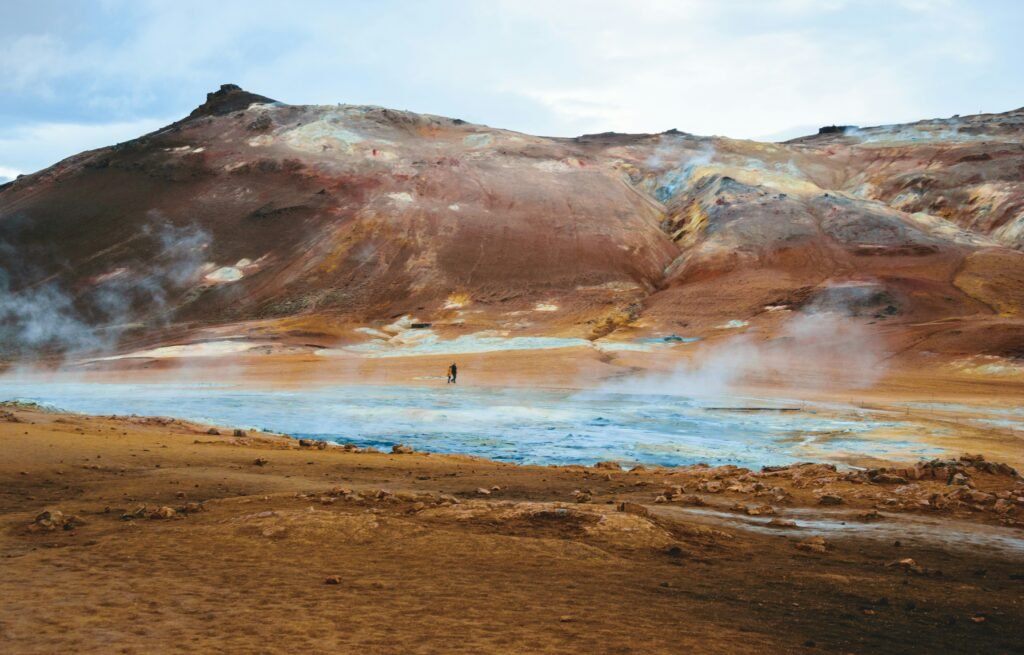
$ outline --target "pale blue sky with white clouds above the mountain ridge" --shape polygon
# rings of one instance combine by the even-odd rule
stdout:
[[[0,182],[220,84],[549,136],[781,140],[1024,105],[1017,0],[0,0]]]

